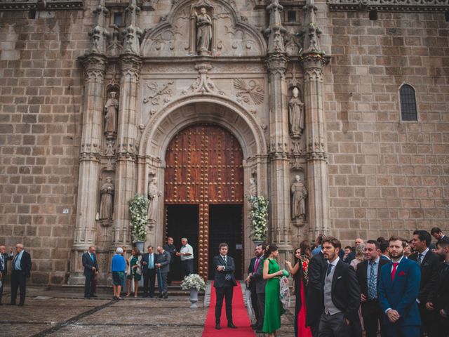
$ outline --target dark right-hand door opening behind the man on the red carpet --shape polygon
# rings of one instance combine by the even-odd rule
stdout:
[[[236,279],[243,278],[243,205],[209,205],[209,279],[215,277],[213,257],[218,255],[218,245],[226,242],[228,254],[234,258]]]

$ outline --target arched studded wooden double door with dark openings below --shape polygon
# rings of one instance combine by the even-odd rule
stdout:
[[[243,277],[242,162],[239,142],[215,124],[189,126],[167,148],[165,234],[175,239],[177,249],[181,237],[189,239],[194,270],[204,278],[213,278],[220,242],[229,245],[236,277]],[[174,276],[180,279],[180,273]]]

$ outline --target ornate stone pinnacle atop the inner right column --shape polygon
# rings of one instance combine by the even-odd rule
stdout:
[[[272,0],[267,6],[267,11],[269,11],[269,27],[264,33],[268,37],[268,53],[285,53],[283,35],[286,34],[286,29],[282,26],[281,20],[283,7],[279,4],[279,0]]]

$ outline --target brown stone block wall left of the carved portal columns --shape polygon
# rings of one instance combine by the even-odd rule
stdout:
[[[76,217],[83,88],[76,58],[88,47],[91,14],[30,16],[0,13],[0,243],[23,242],[33,283],[60,284]]]

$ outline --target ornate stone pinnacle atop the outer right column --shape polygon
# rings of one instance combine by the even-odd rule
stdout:
[[[311,56],[323,58],[325,53],[321,50],[319,38],[321,36],[321,29],[316,25],[315,11],[316,6],[314,0],[307,0],[304,6],[304,12],[306,18],[304,20],[304,27],[300,35],[302,35],[304,41],[302,42],[303,50],[301,58],[307,58]]]

